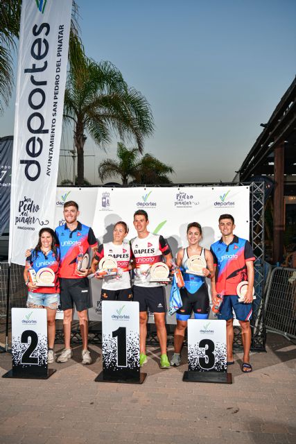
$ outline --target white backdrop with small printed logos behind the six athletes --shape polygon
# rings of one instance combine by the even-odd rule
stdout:
[[[133,214],[141,209],[148,213],[148,229],[168,239],[173,255],[178,248],[187,246],[186,227],[193,221],[202,225],[202,246],[206,248],[221,237],[220,214],[234,216],[235,233],[239,237],[249,239],[250,235],[250,187],[58,187],[55,200],[55,226],[64,223],[64,202],[75,200],[79,205],[79,220],[93,228],[100,243],[112,241],[113,226],[118,221],[128,223],[127,240],[136,236]],[[89,319],[101,321],[101,282],[95,279],[91,282],[93,307],[89,309]],[[170,291],[168,285],[167,304]],[[149,321],[153,322],[153,314],[149,314]],[[166,322],[175,323],[175,316],[167,316]]]

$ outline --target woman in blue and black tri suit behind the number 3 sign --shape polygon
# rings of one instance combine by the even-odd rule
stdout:
[[[185,286],[180,289],[182,307],[176,312],[177,325],[174,334],[175,352],[171,359],[171,366],[180,366],[180,353],[184,341],[187,321],[192,312],[195,319],[207,319],[209,317],[209,292],[205,278],[211,278],[211,284],[215,280],[214,259],[209,250],[200,246],[202,240],[202,227],[198,222],[189,223],[187,226],[187,239],[189,246],[180,248],[177,252],[177,266],[180,266]],[[199,255],[207,262],[207,268],[202,268],[202,276],[186,273],[189,257]]]

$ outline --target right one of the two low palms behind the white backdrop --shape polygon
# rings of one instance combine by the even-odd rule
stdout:
[[[164,164],[152,154],[145,154],[137,164],[132,183],[169,184],[172,181],[167,175],[171,173],[175,173],[172,167]]]

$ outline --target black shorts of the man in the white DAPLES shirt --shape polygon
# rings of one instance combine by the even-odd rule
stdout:
[[[132,287],[133,300],[139,302],[140,311],[151,313],[166,312],[166,298],[164,297],[164,287]]]

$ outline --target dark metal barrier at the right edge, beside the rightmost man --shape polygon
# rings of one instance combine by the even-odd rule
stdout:
[[[265,327],[296,338],[296,268],[272,270],[265,298]]]

